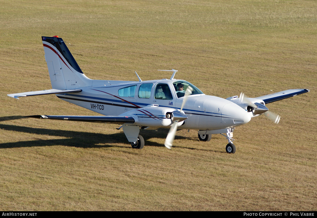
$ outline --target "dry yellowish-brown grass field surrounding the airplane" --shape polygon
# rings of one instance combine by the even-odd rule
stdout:
[[[317,210],[317,2],[0,0],[0,210]],[[309,93],[268,104],[281,115],[200,142],[197,131],[24,119],[97,115],[55,95],[41,36],[59,35],[91,79],[187,80],[205,94]]]

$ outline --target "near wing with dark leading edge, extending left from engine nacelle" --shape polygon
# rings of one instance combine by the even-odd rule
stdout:
[[[130,116],[60,116],[60,115],[32,115],[25,116],[37,119],[58,119],[69,121],[81,121],[81,122],[94,122],[94,123],[134,123],[133,117]]]

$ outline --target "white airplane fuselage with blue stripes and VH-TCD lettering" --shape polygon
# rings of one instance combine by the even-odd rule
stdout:
[[[118,116],[149,105],[179,110],[184,97],[177,95],[175,84],[190,84],[185,80],[175,79],[137,82],[99,80],[98,83],[103,83],[103,85],[81,87],[80,93],[57,94],[57,97],[106,116]],[[142,87],[145,86],[147,90],[142,91]],[[165,93],[166,90],[170,91],[169,97],[157,98],[155,93],[158,87],[165,87]],[[144,95],[142,92],[147,93]],[[188,96],[183,111],[188,118],[183,125],[178,126],[179,129],[217,130],[233,128],[246,124],[251,119],[248,112],[235,103],[216,96],[205,95],[200,90],[197,94],[193,92],[192,95]],[[149,119],[151,118],[149,117]]]

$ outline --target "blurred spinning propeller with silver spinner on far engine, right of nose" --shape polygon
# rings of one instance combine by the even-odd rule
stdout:
[[[266,116],[268,119],[272,120],[275,124],[278,124],[280,122],[281,116],[278,114],[275,114],[273,112],[269,112],[268,108],[260,103],[252,103],[250,99],[244,94],[240,94],[240,102],[243,104],[246,104],[252,108],[252,112],[254,114],[262,114]]]

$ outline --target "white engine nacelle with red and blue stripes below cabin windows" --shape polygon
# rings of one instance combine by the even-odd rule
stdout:
[[[120,116],[131,116],[135,120],[133,125],[148,127],[169,127],[174,121],[178,122],[177,126],[180,126],[187,119],[183,112],[170,107],[159,107],[159,105],[137,108]]]

